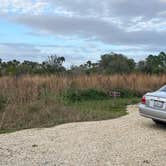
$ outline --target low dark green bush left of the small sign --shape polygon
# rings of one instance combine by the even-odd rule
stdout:
[[[68,89],[63,94],[63,100],[68,102],[80,102],[89,100],[104,100],[108,99],[109,96],[101,90],[96,89]]]

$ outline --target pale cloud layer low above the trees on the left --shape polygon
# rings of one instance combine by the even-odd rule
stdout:
[[[44,48],[51,51],[43,52]],[[10,51],[9,51],[10,50]],[[68,50],[68,51],[65,51]],[[0,58],[3,61],[17,59],[19,61],[31,60],[42,62],[47,60],[50,55],[64,56],[66,59],[65,66],[71,64],[81,64],[91,59],[98,59],[100,54],[96,48],[83,48],[82,46],[74,47],[72,45],[33,45],[26,43],[0,43]],[[86,56],[85,56],[86,55]],[[93,56],[92,56],[93,55]],[[92,57],[91,57],[92,56]]]

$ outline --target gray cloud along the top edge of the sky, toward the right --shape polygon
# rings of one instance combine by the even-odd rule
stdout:
[[[55,5],[78,14],[109,15],[115,17],[143,16],[152,18],[166,9],[164,0],[50,0]]]

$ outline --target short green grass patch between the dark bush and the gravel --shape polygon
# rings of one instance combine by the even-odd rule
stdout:
[[[140,98],[117,98],[82,101],[78,103],[70,103],[67,104],[67,106],[79,111],[81,115],[80,121],[96,121],[113,119],[126,115],[126,106],[136,104],[139,101]]]

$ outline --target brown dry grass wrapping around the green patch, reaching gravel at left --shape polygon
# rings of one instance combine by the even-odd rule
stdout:
[[[80,121],[78,112],[74,110],[66,112],[66,108],[56,101],[56,95],[68,88],[95,88],[106,92],[121,88],[144,94],[164,84],[166,84],[166,75],[1,77],[0,129],[43,126],[41,124],[50,126],[60,123],[58,121],[64,117],[66,119],[61,122]],[[3,103],[4,98],[5,103]]]

